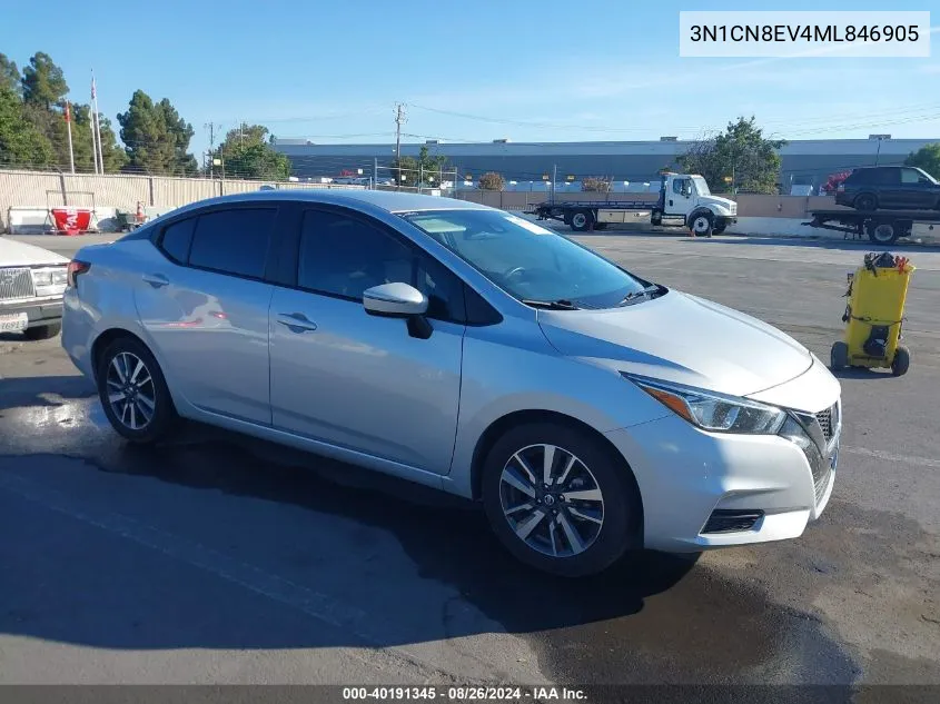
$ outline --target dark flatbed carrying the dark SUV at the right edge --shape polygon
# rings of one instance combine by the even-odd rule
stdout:
[[[892,245],[904,237],[933,238],[940,230],[937,210],[812,210],[809,227],[843,232],[844,238],[868,237],[875,245]]]

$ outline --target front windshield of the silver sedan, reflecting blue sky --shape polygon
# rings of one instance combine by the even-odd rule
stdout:
[[[590,249],[497,210],[435,210],[403,217],[520,300],[617,306],[649,286]]]

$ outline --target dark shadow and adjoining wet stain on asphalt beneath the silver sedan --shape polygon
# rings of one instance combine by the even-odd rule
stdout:
[[[0,455],[2,633],[130,650],[433,643],[496,661],[508,653],[486,638],[509,633],[558,682],[761,682],[783,660],[799,677],[857,674],[818,619],[693,569],[697,555],[555,578],[461,498],[195,424],[130,446],[98,427],[97,399],[73,404],[85,420],[49,430],[57,454],[38,438]],[[6,490],[20,479],[39,495]]]

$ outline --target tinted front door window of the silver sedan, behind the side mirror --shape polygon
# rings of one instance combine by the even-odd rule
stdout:
[[[428,317],[465,319],[463,281],[439,261],[357,218],[319,210],[304,214],[300,288],[362,300],[366,289],[396,282],[427,296]]]

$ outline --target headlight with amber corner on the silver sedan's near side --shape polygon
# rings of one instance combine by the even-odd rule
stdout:
[[[703,430],[775,435],[786,420],[786,413],[775,406],[646,377],[623,376]]]

